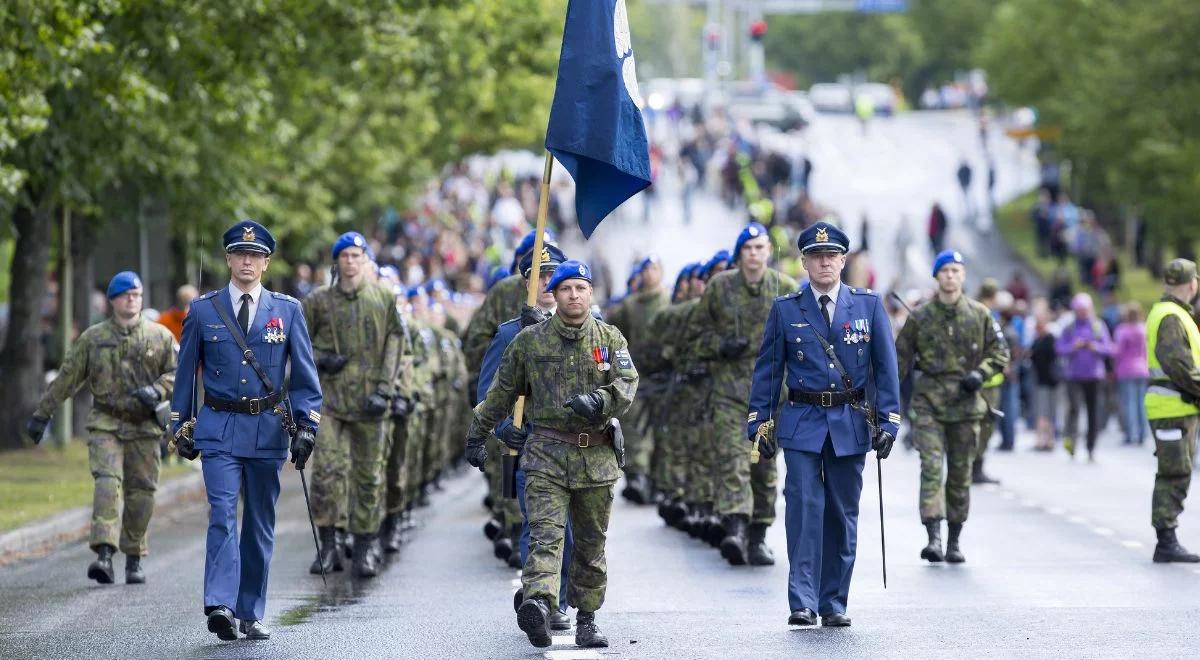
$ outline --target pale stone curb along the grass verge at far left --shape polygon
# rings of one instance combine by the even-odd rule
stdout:
[[[194,474],[158,484],[155,510],[174,508],[184,502],[204,497],[204,476]],[[18,527],[0,534],[0,566],[20,559],[42,557],[61,546],[88,536],[91,528],[91,506],[79,506],[49,518]]]

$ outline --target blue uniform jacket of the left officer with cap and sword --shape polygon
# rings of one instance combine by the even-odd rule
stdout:
[[[232,332],[241,329],[226,328],[214,305],[223,305],[230,319],[236,319],[229,301],[228,287],[206,293],[192,301],[184,318],[184,336],[179,347],[179,370],[175,376],[175,392],[170,401],[173,432],[184,420],[192,419],[192,386],[196,368],[203,368],[203,388],[206,396],[226,400],[258,398],[269,395],[266,386],[242,359],[241,349]],[[281,342],[268,342],[264,328],[271,319],[283,326]],[[300,301],[281,293],[263,289],[258,299],[254,323],[250,326],[246,346],[254,352],[271,384],[283,386],[288,361],[292,362],[292,382],[288,400],[298,425],[316,431],[320,424],[320,383],[313,362],[312,343],[305,323]],[[288,438],[282,420],[272,410],[258,415],[218,413],[202,406],[193,433],[196,449],[226,451],[246,458],[287,458]]]

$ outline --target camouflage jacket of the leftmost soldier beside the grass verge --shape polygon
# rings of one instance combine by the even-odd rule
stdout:
[[[54,409],[84,384],[94,397],[89,431],[120,437],[161,436],[163,430],[132,391],[154,385],[161,401],[175,388],[179,344],[163,325],[140,318],[130,328],[107,319],[83,331],[67,353],[58,378],[42,395],[35,415],[49,419]]]

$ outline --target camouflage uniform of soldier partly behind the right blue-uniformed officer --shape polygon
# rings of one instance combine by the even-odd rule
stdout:
[[[708,364],[712,373],[715,504],[721,516],[744,515],[752,523],[775,522],[778,467],[775,461],[750,464],[745,416],[756,356],[754,346],[762,337],[775,298],[798,288],[796,280],[774,269],[767,269],[757,284],[746,282],[740,270],[719,272],[708,282],[689,320],[688,335],[695,337],[695,355]],[[742,355],[733,359],[720,355],[721,340],[726,337],[748,340]]]

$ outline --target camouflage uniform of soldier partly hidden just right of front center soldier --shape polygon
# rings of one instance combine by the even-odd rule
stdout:
[[[650,319],[668,302],[667,293],[661,287],[653,290],[640,290],[622,300],[605,322],[620,330],[620,334],[629,341],[630,353],[642,360],[641,356],[649,353],[648,347],[654,341],[649,332]],[[622,431],[625,433],[625,454],[628,456],[625,472],[629,474],[649,475],[652,469],[659,467],[652,464],[652,457],[655,454],[652,425],[644,424],[649,414],[647,408],[656,403],[654,397],[641,396],[620,420]]]

